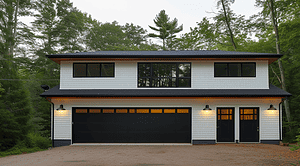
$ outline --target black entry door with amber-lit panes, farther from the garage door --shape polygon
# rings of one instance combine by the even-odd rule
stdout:
[[[259,142],[259,108],[240,108],[240,142]]]

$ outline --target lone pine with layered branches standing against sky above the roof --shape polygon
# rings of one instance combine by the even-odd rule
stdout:
[[[169,39],[170,42],[174,37],[176,37],[176,33],[179,33],[183,30],[183,25],[178,27],[178,20],[174,18],[174,20],[170,21],[170,17],[166,14],[165,10],[161,10],[158,15],[156,15],[153,20],[156,27],[149,27],[159,32],[159,35],[150,33],[149,37],[158,37],[163,40],[163,50],[166,50],[166,40]],[[170,43],[172,45],[172,43]]]

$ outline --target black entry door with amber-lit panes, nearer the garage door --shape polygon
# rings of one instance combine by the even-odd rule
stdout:
[[[234,107],[217,108],[217,141],[234,142]]]

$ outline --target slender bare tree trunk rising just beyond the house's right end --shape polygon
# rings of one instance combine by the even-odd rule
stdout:
[[[275,18],[274,1],[273,0],[267,0],[267,5],[268,5],[269,10],[270,10],[271,20],[272,20],[274,31],[275,31],[277,54],[280,54],[278,23],[277,23],[277,20]],[[280,71],[280,75],[281,75],[281,86],[282,86],[282,89],[284,91],[286,91],[284,70],[283,70],[283,67],[282,67],[281,58],[279,58],[277,62],[278,62],[279,71]],[[284,107],[285,107],[285,113],[286,113],[287,120],[288,120],[288,122],[291,122],[290,107],[289,107],[289,103],[288,103],[287,98],[284,100]],[[289,129],[291,131],[291,126],[290,125],[289,125]]]

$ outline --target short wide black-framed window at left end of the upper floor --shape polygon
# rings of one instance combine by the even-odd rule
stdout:
[[[114,77],[114,63],[74,63],[73,77]]]

